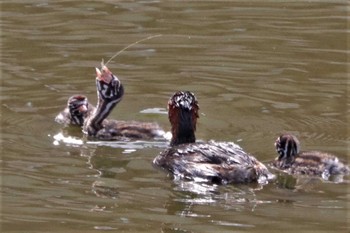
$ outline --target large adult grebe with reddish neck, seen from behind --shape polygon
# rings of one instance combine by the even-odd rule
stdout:
[[[196,143],[198,110],[191,92],[176,92],[170,98],[171,147],[153,160],[154,165],[174,178],[218,184],[266,182],[273,177],[264,164],[232,142]]]

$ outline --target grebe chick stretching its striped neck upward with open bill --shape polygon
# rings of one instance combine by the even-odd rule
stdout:
[[[95,111],[84,123],[84,133],[100,140],[152,139],[164,135],[156,123],[106,119],[121,101],[124,87],[103,64],[101,70],[96,68],[96,76],[98,102]]]

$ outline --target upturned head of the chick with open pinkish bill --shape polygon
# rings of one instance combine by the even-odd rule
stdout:
[[[124,87],[117,76],[102,64],[96,68],[96,87],[99,99],[117,104],[124,95]]]

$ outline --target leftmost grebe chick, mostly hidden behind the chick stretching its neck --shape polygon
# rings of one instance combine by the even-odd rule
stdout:
[[[64,125],[83,126],[95,107],[88,102],[84,95],[73,95],[69,97],[67,107],[55,118],[55,121]]]

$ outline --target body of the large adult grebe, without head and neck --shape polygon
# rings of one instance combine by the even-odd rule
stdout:
[[[183,179],[212,183],[266,182],[265,165],[230,142],[188,143],[171,147],[153,162]]]

